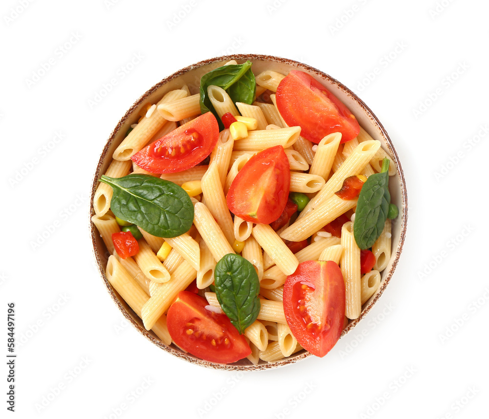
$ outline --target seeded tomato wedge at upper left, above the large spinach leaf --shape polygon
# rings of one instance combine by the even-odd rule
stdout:
[[[131,160],[151,173],[175,173],[193,168],[216,147],[219,125],[204,113],[135,153]]]

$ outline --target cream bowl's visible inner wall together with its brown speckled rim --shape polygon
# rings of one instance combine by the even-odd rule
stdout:
[[[391,201],[398,206],[400,209],[399,216],[396,220],[394,220],[392,224],[392,255],[391,260],[387,266],[387,268],[382,272],[381,275],[381,283],[377,292],[372,295],[372,297],[363,305],[363,310],[360,316],[350,321],[348,326],[344,329],[342,336],[350,332],[359,321],[368,313],[368,311],[374,306],[377,302],[380,295],[383,293],[396,269],[396,265],[398,263],[400,253],[402,251],[402,245],[404,243],[404,237],[406,232],[406,222],[407,222],[407,194],[406,187],[404,182],[404,174],[402,171],[402,167],[397,155],[397,152],[385,132],[380,121],[378,121],[377,117],[370,110],[370,108],[363,103],[361,99],[359,99],[351,90],[349,90],[346,86],[339,83],[337,80],[330,77],[328,74],[323,73],[316,68],[313,68],[309,65],[298,63],[296,61],[271,57],[265,55],[253,55],[253,54],[244,54],[244,55],[234,55],[234,56],[223,56],[212,58],[209,60],[202,61],[200,63],[196,63],[193,65],[189,65],[186,68],[183,68],[171,76],[166,77],[161,82],[157,83],[151,89],[149,89],[146,93],[144,93],[126,112],[126,114],[119,121],[117,126],[115,126],[112,131],[103,151],[98,161],[98,165],[95,171],[95,175],[93,178],[93,185],[91,190],[91,203],[93,204],[93,196],[95,190],[98,185],[98,180],[102,176],[102,174],[107,170],[109,164],[111,163],[112,154],[115,148],[121,143],[122,139],[125,136],[128,128],[137,122],[138,113],[143,106],[146,104],[154,104],[158,102],[165,93],[172,89],[180,88],[183,84],[187,84],[190,88],[192,94],[199,92],[200,86],[200,77],[207,73],[208,71],[220,67],[223,63],[228,62],[229,60],[236,60],[238,63],[243,63],[246,60],[250,60],[253,63],[252,70],[254,74],[258,74],[264,70],[274,70],[283,74],[288,74],[290,70],[299,69],[310,73],[313,77],[319,80],[322,84],[324,84],[328,89],[330,89],[336,97],[338,97],[356,116],[360,126],[362,126],[375,140],[381,142],[382,147],[387,151],[392,160],[396,163],[398,168],[398,173],[395,176],[390,177],[390,192],[391,192]],[[93,205],[92,205],[93,207]],[[93,212],[90,213],[90,217],[93,215]],[[139,331],[141,335],[144,335],[155,345],[159,346],[166,352],[174,356],[178,356],[188,362],[192,362],[195,364],[199,364],[201,366],[216,368],[216,369],[224,369],[224,370],[247,370],[247,371],[258,371],[268,368],[276,368],[284,365],[288,365],[290,363],[297,362],[301,359],[304,359],[308,356],[312,356],[306,351],[301,351],[293,356],[290,356],[286,359],[276,361],[276,362],[264,362],[258,365],[252,365],[247,359],[241,360],[234,364],[223,365],[216,364],[212,362],[203,361],[198,359],[190,354],[182,352],[177,347],[166,346],[159,341],[159,339],[154,335],[151,331],[147,331],[143,325],[142,321],[137,314],[133,312],[133,310],[126,304],[126,302],[120,297],[120,295],[112,288],[111,284],[107,280],[105,275],[105,267],[108,259],[108,252],[105,248],[105,245],[98,234],[98,231],[91,224],[90,221],[90,230],[91,237],[93,243],[93,250],[97,265],[99,267],[100,273],[102,275],[102,279],[107,287],[107,291],[109,292],[112,300],[117,304],[121,312],[124,316],[130,321],[133,326]]]

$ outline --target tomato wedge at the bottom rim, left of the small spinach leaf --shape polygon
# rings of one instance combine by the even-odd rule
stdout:
[[[168,332],[184,351],[205,361],[229,364],[251,354],[251,349],[225,314],[205,308],[207,300],[180,291],[166,315]]]

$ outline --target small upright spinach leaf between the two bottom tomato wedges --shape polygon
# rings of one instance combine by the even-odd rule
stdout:
[[[243,335],[260,312],[260,281],[254,266],[239,254],[228,253],[216,264],[214,279],[222,311]]]

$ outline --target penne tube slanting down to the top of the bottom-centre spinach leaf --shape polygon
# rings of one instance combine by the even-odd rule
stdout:
[[[211,212],[201,202],[194,205],[194,225],[216,261],[228,253],[234,253]]]

